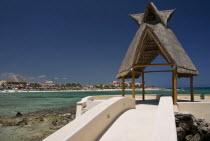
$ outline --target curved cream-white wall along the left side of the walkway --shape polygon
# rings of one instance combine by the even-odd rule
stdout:
[[[94,141],[123,112],[135,108],[135,99],[114,97],[93,107],[44,141]]]

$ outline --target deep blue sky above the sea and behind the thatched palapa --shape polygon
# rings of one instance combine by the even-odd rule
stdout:
[[[139,28],[128,14],[144,12],[147,2],[1,0],[0,78],[19,74],[29,81],[113,81]],[[176,8],[169,26],[199,70],[195,86],[210,86],[210,2],[153,2],[159,10]],[[147,74],[145,79],[148,85],[171,87],[170,73]],[[178,84],[188,87],[189,80]]]

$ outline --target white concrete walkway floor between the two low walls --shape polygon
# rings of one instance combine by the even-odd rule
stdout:
[[[153,104],[138,104],[123,113],[100,141],[151,141],[158,108],[157,102]]]

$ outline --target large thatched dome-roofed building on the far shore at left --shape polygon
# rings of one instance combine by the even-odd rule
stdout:
[[[6,87],[7,88],[26,88],[27,81],[23,79],[23,77],[18,75],[11,75],[6,80]]]

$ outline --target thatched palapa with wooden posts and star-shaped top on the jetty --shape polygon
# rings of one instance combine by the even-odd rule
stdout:
[[[140,25],[140,28],[136,32],[117,74],[118,79],[122,78],[123,96],[124,79],[126,78],[132,78],[132,96],[135,98],[135,78],[142,76],[142,97],[144,100],[144,73],[172,72],[174,104],[177,103],[177,77],[190,78],[191,101],[194,101],[193,76],[197,76],[198,71],[167,25],[174,11],[175,9],[159,11],[150,2],[144,13],[130,15]],[[167,64],[151,64],[158,55],[162,56]],[[144,71],[149,66],[171,66],[172,69]]]

